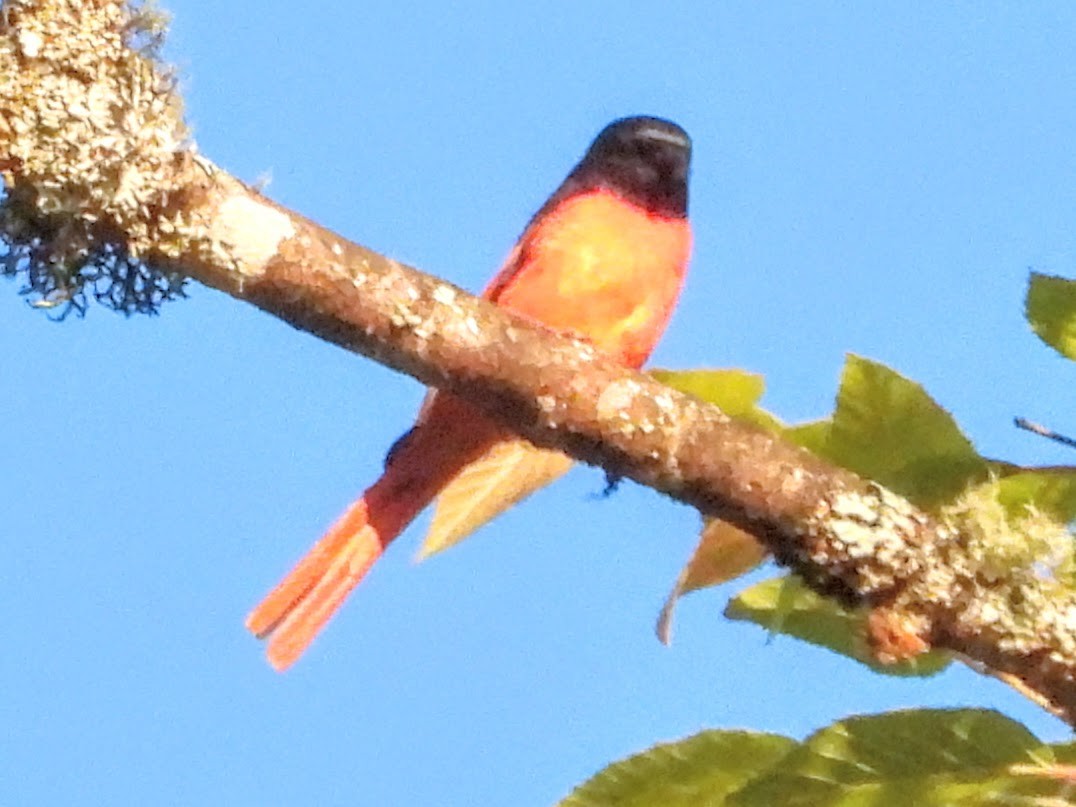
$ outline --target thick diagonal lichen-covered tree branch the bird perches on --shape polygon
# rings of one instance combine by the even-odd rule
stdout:
[[[221,171],[186,139],[154,58],[159,20],[117,0],[3,10],[0,228],[57,294],[102,255],[182,272],[750,532],[818,591],[870,606],[880,655],[958,651],[1076,723],[1076,595],[1028,575],[985,581],[971,536],[880,485]]]

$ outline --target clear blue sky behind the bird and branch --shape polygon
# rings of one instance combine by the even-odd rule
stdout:
[[[788,421],[846,352],[922,382],[988,455],[1072,463],[1074,369],[1022,320],[1076,274],[1068,3],[173,0],[210,158],[344,236],[480,288],[613,117],[695,142],[696,244],[653,364],[763,373]],[[0,801],[550,805],[704,727],[982,705],[686,598],[691,510],[574,471],[464,546],[412,528],[285,676],[246,610],[377,475],[413,381],[200,287],[58,325],[0,282]]]

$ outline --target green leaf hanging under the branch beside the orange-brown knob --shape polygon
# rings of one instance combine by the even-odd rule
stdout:
[[[864,639],[866,611],[841,608],[794,576],[765,580],[740,592],[728,603],[725,615],[829,648],[890,676],[932,676],[950,661],[947,654],[931,651],[897,664],[880,663]]]

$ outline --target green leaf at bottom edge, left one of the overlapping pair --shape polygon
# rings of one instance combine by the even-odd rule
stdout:
[[[776,734],[703,732],[613,763],[558,807],[721,807],[795,745]]]

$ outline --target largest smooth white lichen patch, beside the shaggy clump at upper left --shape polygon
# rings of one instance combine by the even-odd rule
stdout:
[[[287,215],[243,194],[225,199],[208,229],[210,241],[247,277],[260,274],[281,242],[294,235],[295,226]]]

